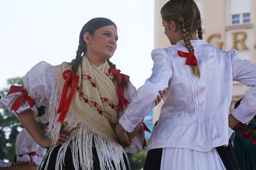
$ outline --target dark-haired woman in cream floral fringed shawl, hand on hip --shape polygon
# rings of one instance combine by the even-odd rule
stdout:
[[[129,77],[109,61],[117,40],[111,20],[90,20],[81,30],[76,59],[57,66],[39,62],[24,77],[24,88],[12,86],[0,100],[0,108],[16,113],[30,136],[48,148],[41,170],[129,170],[125,151],[143,147],[142,121],[128,133],[131,145],[119,144],[114,133],[136,93]],[[49,139],[34,118],[41,106],[46,113],[37,120],[47,124]]]

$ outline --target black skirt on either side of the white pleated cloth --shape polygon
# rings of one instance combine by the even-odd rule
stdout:
[[[240,170],[234,148],[229,141],[228,147],[216,147],[218,154],[227,170]],[[143,170],[160,170],[163,148],[148,151]]]

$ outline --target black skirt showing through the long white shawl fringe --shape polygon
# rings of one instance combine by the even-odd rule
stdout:
[[[46,158],[44,158],[46,161],[44,162],[44,164],[41,164],[40,168],[42,168],[43,170],[55,170],[56,158],[57,158],[58,150],[60,149],[60,147],[61,147],[61,145],[59,145],[59,146],[57,146],[53,149],[53,151],[50,155],[50,159],[49,159],[47,169],[45,169],[45,167],[46,167],[46,163],[47,163],[47,160],[48,160],[48,156]],[[93,158],[94,158],[94,160],[93,160],[93,170],[101,170],[100,169],[100,164],[99,164],[99,157],[98,157],[98,154],[97,154],[97,151],[96,151],[95,147],[93,147]],[[128,170],[129,169],[128,168],[128,161],[126,159],[125,154],[123,154],[123,158],[125,160],[125,167]],[[65,158],[64,158],[64,164],[65,165],[63,165],[61,170],[75,170],[75,167],[74,167],[74,164],[73,164],[72,151],[71,151],[70,147],[67,147],[67,151],[66,151]],[[112,164],[113,164],[113,167],[115,167],[113,162],[112,162]],[[121,166],[121,163],[120,163],[120,166]],[[123,170],[122,166],[121,166],[121,170]]]

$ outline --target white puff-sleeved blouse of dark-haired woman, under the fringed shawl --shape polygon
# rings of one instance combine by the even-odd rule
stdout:
[[[29,103],[26,100],[23,100],[16,113],[22,113],[27,109],[32,109],[34,116],[37,116],[37,107],[39,108],[41,105],[48,107],[49,98],[52,95],[53,83],[55,83],[54,76],[53,66],[47,62],[39,62],[37,65],[31,68],[31,70],[28,71],[23,78],[23,84],[24,89],[26,89],[28,92],[28,95],[35,100],[35,105],[30,108]],[[132,85],[131,82],[129,82],[127,93],[125,94],[128,102],[131,102],[136,92],[137,89],[134,87],[134,85]],[[22,92],[17,92],[3,97],[0,99],[0,108],[8,109],[10,111],[15,100],[18,99],[21,95]],[[10,112],[16,114],[13,110]],[[123,112],[120,112],[119,117],[121,117],[122,114]],[[144,137],[144,130],[143,127],[141,127],[139,133],[132,140],[133,143],[129,147],[125,148],[125,151],[128,153],[134,153],[141,150],[143,147]]]

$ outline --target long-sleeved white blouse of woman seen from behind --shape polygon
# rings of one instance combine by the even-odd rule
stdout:
[[[152,75],[137,91],[124,115],[119,119],[126,131],[134,127],[154,108],[159,90],[167,88],[159,121],[154,128],[148,150],[179,147],[207,152],[227,145],[230,137],[228,115],[233,95],[233,80],[251,86],[240,106],[232,112],[242,123],[256,114],[256,65],[241,60],[237,51],[221,51],[205,40],[191,40],[201,77],[192,74],[186,58],[177,51],[188,52],[183,40],[164,49],[152,51]]]

